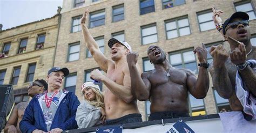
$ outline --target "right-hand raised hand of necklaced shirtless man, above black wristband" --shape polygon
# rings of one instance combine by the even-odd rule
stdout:
[[[194,54],[197,53],[197,57],[200,63],[207,63],[207,49],[202,43],[202,47],[197,47],[196,49],[193,50]]]

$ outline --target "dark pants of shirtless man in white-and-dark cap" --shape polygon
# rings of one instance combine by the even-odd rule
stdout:
[[[125,124],[125,123],[134,123],[142,122],[141,114],[129,114],[118,119],[107,120],[105,125],[114,125],[114,124]]]

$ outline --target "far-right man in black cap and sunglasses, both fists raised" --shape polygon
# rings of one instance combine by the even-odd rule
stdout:
[[[235,124],[238,124],[246,123],[244,120],[252,120],[251,122],[254,122],[255,125],[256,76],[252,65],[248,64],[255,63],[256,47],[252,46],[250,41],[249,16],[245,12],[235,12],[225,21],[222,27],[219,27],[221,13],[223,11],[213,9],[213,20],[218,31],[223,34],[224,39],[229,43],[231,52],[223,45],[211,47],[210,54],[213,57],[213,64],[210,67],[210,72],[213,86],[221,97],[228,99],[231,109],[237,111],[232,113],[237,113],[236,116],[240,118],[239,121],[231,119],[228,121],[237,122]],[[242,79],[240,83],[238,82],[238,76]],[[238,87],[241,83],[242,88]],[[250,124],[246,123],[245,125]],[[252,130],[252,127],[248,129]]]

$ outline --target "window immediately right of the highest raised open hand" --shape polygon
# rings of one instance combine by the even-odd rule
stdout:
[[[105,25],[105,10],[90,13],[90,28]]]

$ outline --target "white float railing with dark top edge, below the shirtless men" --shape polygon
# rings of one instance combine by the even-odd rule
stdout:
[[[157,121],[145,121],[138,123],[127,123],[122,125],[107,125],[85,129],[74,129],[63,132],[96,132],[102,128],[120,127],[123,129],[123,133],[127,132],[175,132],[173,128],[175,123],[185,122],[194,132],[223,132],[223,125],[220,121],[219,114],[191,116],[191,117],[179,117],[175,119],[157,120]],[[109,131],[107,131],[109,132]],[[177,132],[177,131],[176,131]]]

